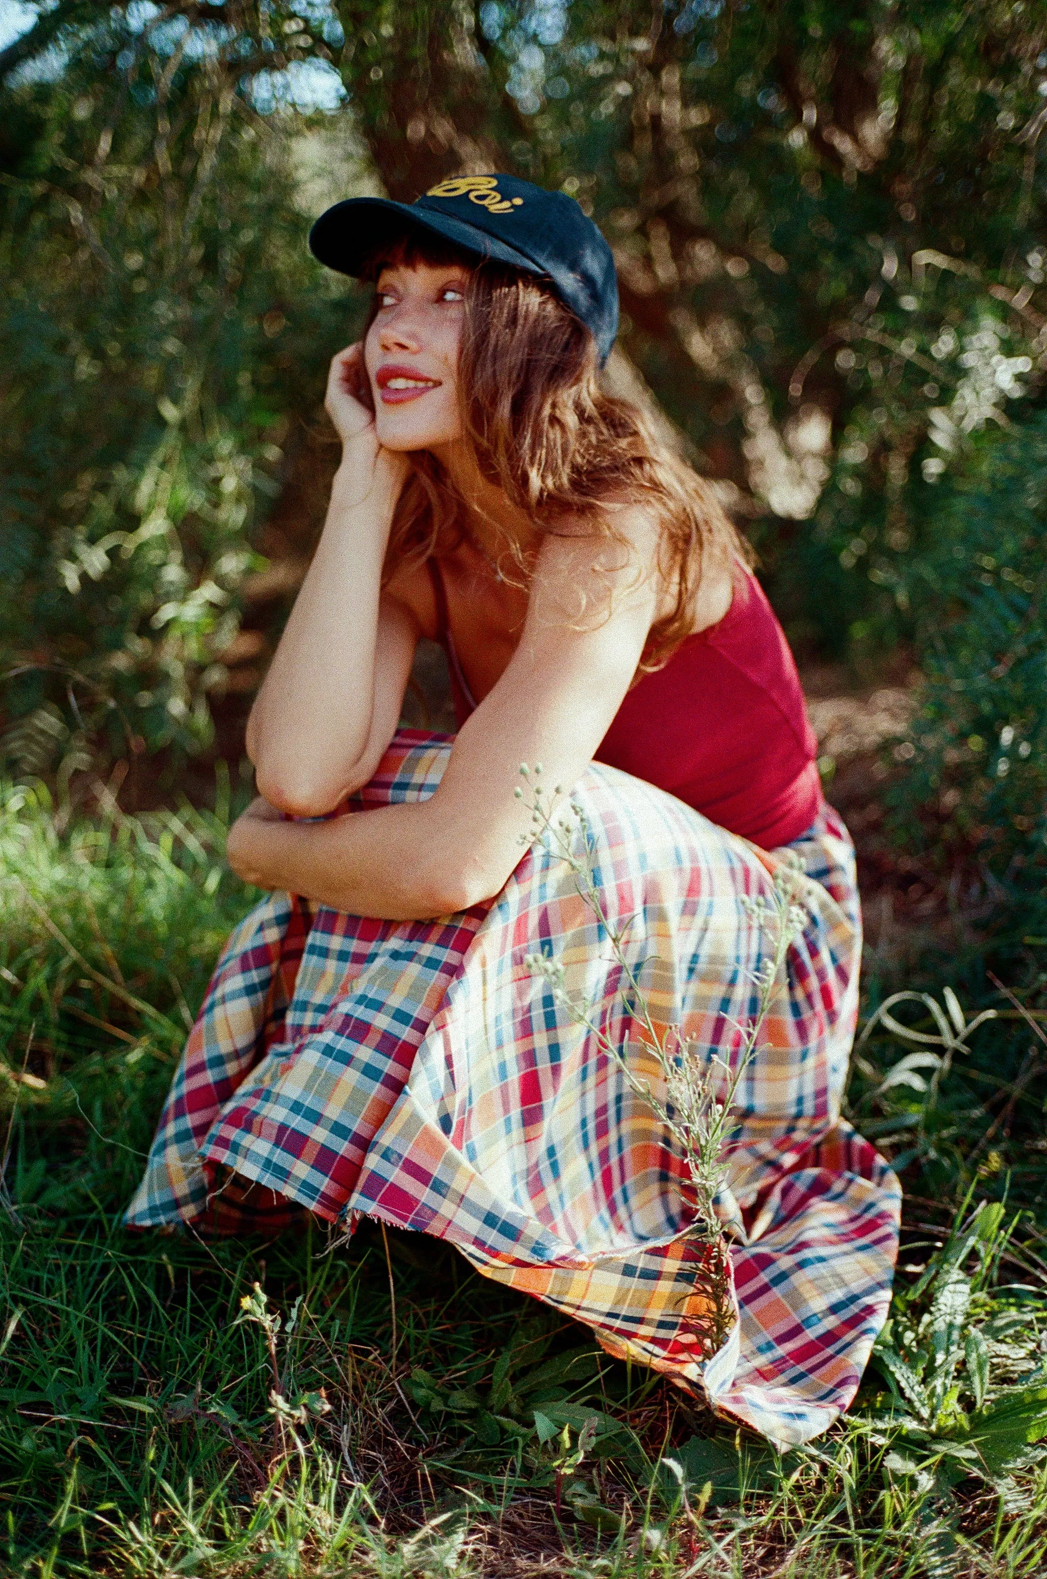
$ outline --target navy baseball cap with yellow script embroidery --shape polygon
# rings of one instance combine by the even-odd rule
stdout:
[[[310,251],[328,268],[358,276],[374,248],[404,229],[431,231],[477,257],[548,279],[591,330],[603,366],[617,335],[617,276],[611,248],[573,197],[515,175],[452,175],[411,204],[336,202],[310,231]]]

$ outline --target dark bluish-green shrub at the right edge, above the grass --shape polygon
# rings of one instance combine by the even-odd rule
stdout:
[[[995,880],[996,919],[1041,930],[1047,868],[1047,412],[985,434],[930,512],[906,592],[925,684],[895,831]],[[1030,910],[1031,906],[1031,910]]]

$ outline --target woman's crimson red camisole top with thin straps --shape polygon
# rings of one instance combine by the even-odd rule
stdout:
[[[455,651],[439,564],[430,559],[428,567],[461,726],[475,701]],[[723,619],[687,636],[663,668],[627,692],[595,759],[774,850],[799,838],[818,815],[815,755],[785,633],[756,578],[739,572]]]

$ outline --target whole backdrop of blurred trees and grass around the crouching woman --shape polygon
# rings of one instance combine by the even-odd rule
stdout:
[[[5,1576],[1044,1571],[1045,128],[1039,0],[0,0]],[[856,835],[903,1252],[805,1454],[434,1241],[120,1227],[257,898],[365,313],[308,224],[477,171],[608,235],[606,377],[755,545]]]

